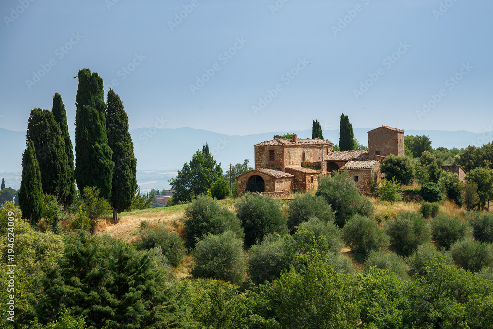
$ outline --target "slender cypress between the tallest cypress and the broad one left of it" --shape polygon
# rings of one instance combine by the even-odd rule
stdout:
[[[67,125],[65,105],[63,104],[62,96],[60,96],[59,93],[56,93],[55,96],[53,96],[53,107],[51,109],[51,113],[60,127],[62,138],[65,142],[65,155],[67,157],[67,163],[62,168],[62,176],[64,177],[64,180],[62,182],[63,185],[60,188],[61,194],[59,197],[61,203],[64,205],[65,209],[67,209],[67,206],[72,204],[75,196],[73,146],[69,135],[69,126]]]

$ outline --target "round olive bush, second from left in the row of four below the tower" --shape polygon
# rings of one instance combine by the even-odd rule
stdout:
[[[418,246],[431,241],[421,214],[401,212],[396,219],[387,222],[385,230],[390,237],[390,250],[400,256],[410,256]]]

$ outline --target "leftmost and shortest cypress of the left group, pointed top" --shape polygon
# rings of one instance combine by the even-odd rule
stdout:
[[[33,141],[28,141],[28,147],[22,155],[21,189],[18,197],[22,218],[29,219],[33,225],[37,224],[43,215],[43,188]]]

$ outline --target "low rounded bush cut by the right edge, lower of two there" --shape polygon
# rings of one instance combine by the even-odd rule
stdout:
[[[464,239],[450,247],[450,254],[456,265],[467,271],[479,272],[483,267],[493,265],[491,244]]]

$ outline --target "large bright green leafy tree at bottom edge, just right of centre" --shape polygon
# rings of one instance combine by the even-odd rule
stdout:
[[[274,310],[282,328],[355,328],[359,307],[346,278],[315,257],[273,282]]]

